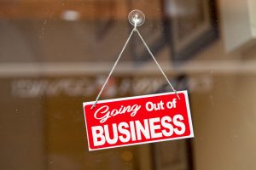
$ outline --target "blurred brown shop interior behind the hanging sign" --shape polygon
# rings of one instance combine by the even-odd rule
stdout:
[[[96,99],[140,9],[194,139],[88,151]],[[256,169],[254,0],[0,0],[0,169]],[[136,34],[134,34],[136,35]],[[102,99],[170,92],[137,36]]]

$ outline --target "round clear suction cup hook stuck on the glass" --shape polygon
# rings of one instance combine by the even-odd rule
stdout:
[[[137,26],[142,26],[145,21],[145,15],[143,14],[142,11],[134,9],[128,15],[128,19],[132,26],[135,26],[136,22]]]

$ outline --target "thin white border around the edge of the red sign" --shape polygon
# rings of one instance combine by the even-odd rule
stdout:
[[[133,96],[133,97],[126,97],[126,98],[118,98],[118,99],[103,99],[103,100],[99,100],[97,103],[101,104],[101,103],[107,103],[107,102],[109,103],[109,102],[114,102],[114,101],[122,101],[122,100],[127,100],[127,99],[141,99],[141,98],[145,98],[145,97],[154,97],[154,96],[161,96],[161,95],[166,95],[166,94],[175,94],[175,92],[161,93],[161,94],[148,94],[148,95]],[[85,113],[85,110],[84,110],[85,105],[93,105],[95,103],[95,101],[84,102],[83,103],[84,121],[85,121],[85,128],[86,128],[86,133],[87,133],[87,142],[88,142],[89,151],[119,148],[119,147],[123,147],[123,146],[131,146],[131,145],[137,145],[137,144],[150,144],[150,143],[156,143],[156,142],[162,142],[162,141],[168,141],[168,140],[175,140],[175,139],[194,138],[194,131],[193,131],[191,113],[190,113],[190,108],[189,108],[188,91],[187,90],[178,91],[177,94],[184,94],[185,95],[185,102],[186,102],[186,107],[187,107],[188,117],[189,117],[189,128],[190,128],[189,136],[177,137],[177,138],[172,138],[172,139],[158,139],[158,140],[152,140],[152,141],[147,141],[147,142],[138,142],[138,143],[134,143],[134,144],[121,144],[121,145],[117,145],[117,146],[108,146],[108,147],[98,148],[98,149],[90,149],[90,143],[89,143],[89,138],[88,138],[88,130],[87,130],[87,122],[86,122],[86,116],[85,116],[86,113]]]

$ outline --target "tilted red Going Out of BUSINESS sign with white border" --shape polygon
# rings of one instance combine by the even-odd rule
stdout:
[[[84,102],[89,150],[193,138],[187,91]]]

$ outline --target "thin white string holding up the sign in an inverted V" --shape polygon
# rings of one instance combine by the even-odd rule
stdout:
[[[99,98],[100,98],[100,96],[101,96],[101,94],[102,94],[103,89],[105,88],[106,84],[108,83],[108,80],[109,80],[109,78],[111,77],[114,68],[115,68],[116,65],[118,64],[119,59],[121,58],[121,55],[124,53],[125,48],[126,48],[128,42],[130,41],[131,36],[132,36],[132,34],[133,34],[134,32],[137,32],[137,35],[141,38],[141,40],[142,40],[142,42],[143,42],[145,48],[147,48],[147,50],[148,50],[148,53],[151,55],[152,59],[154,59],[154,63],[158,66],[158,68],[160,69],[161,73],[162,73],[163,76],[166,78],[166,81],[168,82],[169,86],[172,88],[172,91],[176,94],[177,99],[180,99],[179,96],[178,96],[178,94],[177,94],[177,91],[173,88],[172,83],[168,80],[168,78],[166,77],[165,72],[162,70],[162,68],[160,67],[159,63],[158,63],[157,60],[154,58],[154,54],[152,54],[152,52],[151,52],[150,49],[148,48],[147,43],[144,41],[142,35],[141,35],[140,32],[137,30],[137,21],[138,21],[137,15],[135,15],[135,24],[134,24],[134,28],[132,29],[132,31],[131,31],[129,37],[127,38],[127,40],[126,40],[126,42],[125,42],[124,47],[122,48],[122,50],[121,50],[121,52],[120,52],[118,58],[116,59],[116,61],[115,61],[114,65],[113,65],[111,71],[109,72],[108,77],[107,77],[106,81],[104,82],[101,91],[100,91],[99,94],[97,95],[96,100],[95,100],[95,103],[91,106],[90,109],[93,109],[93,108],[96,107],[96,104],[97,104],[97,102],[98,102],[98,100],[99,100]]]

